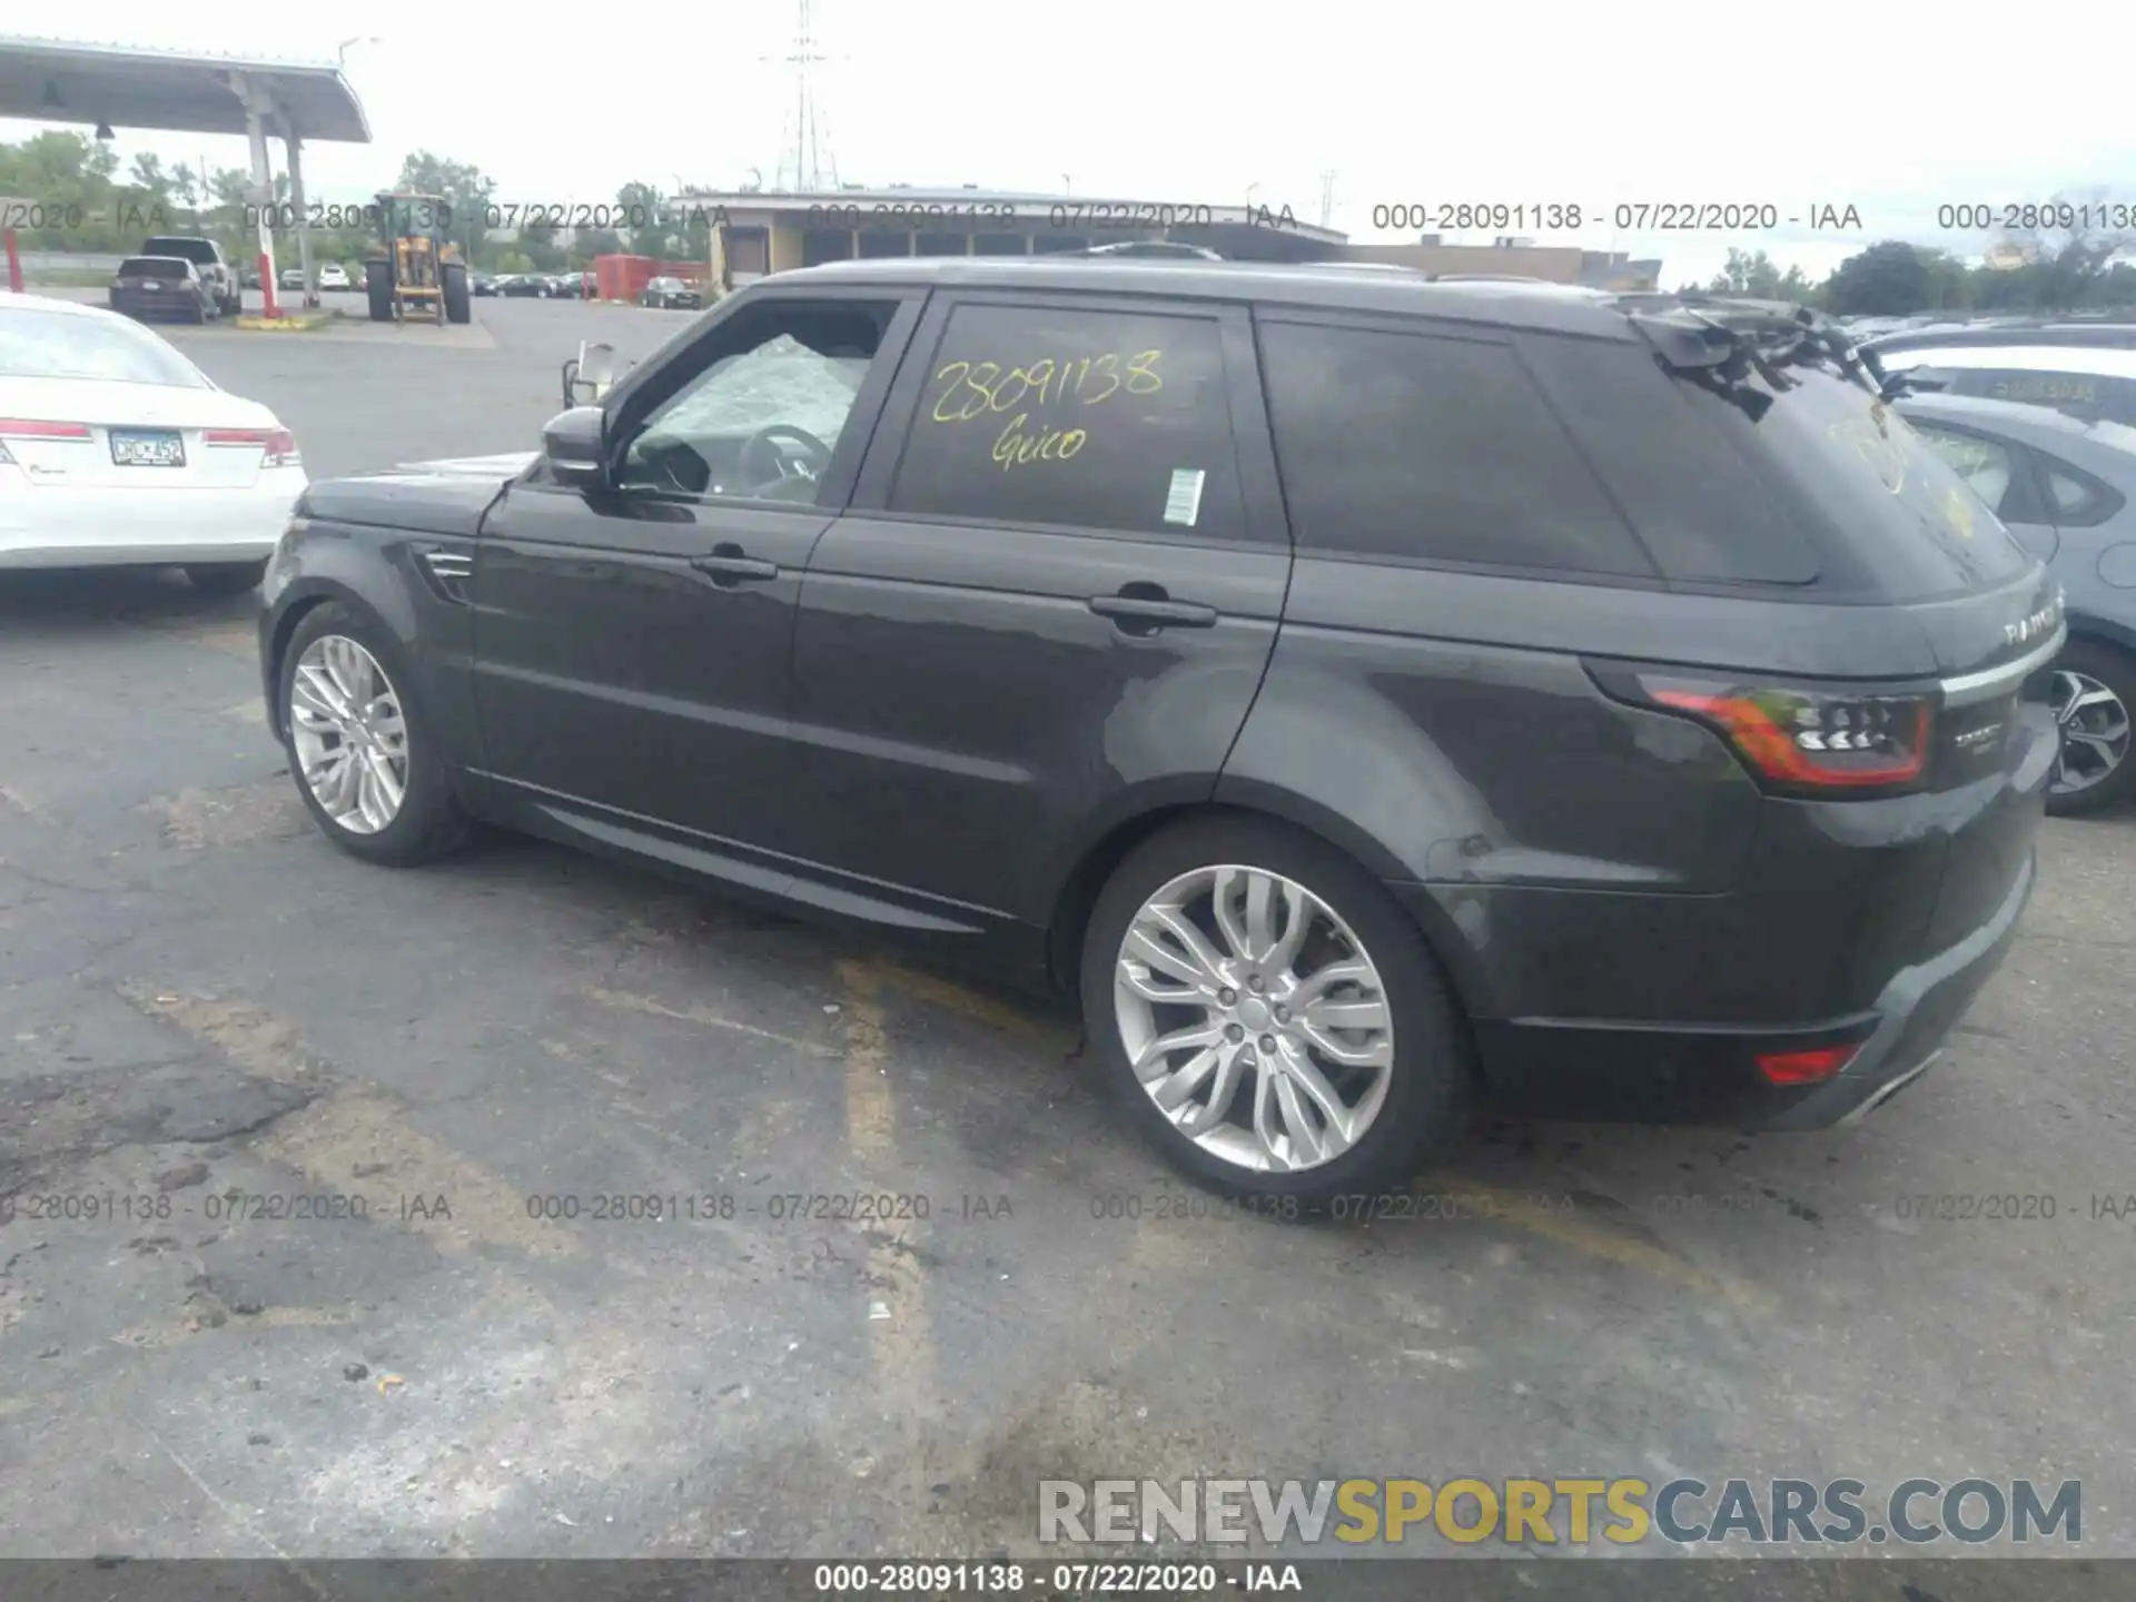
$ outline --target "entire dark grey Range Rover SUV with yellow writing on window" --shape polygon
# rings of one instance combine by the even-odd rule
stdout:
[[[978,942],[1299,1198],[1476,1094],[1910,1083],[2031,893],[2066,632],[1807,312],[1087,258],[767,278],[538,455],[314,483],[267,598],[357,857],[483,818]]]

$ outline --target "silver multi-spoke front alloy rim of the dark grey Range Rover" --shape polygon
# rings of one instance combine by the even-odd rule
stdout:
[[[303,647],[288,681],[297,769],[320,810],[352,835],[376,835],[408,795],[408,724],[378,658],[346,634]]]

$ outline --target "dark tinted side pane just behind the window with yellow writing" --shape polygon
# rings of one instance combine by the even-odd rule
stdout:
[[[1301,551],[1655,577],[1506,344],[1260,323]]]

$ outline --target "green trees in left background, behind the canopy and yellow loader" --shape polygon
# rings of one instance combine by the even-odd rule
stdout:
[[[594,256],[617,252],[673,261],[709,261],[711,229],[703,214],[690,224],[662,222],[666,197],[651,184],[624,184],[615,192],[615,209],[645,218],[645,226],[572,229],[528,224],[517,231],[489,229],[496,179],[472,162],[457,162],[427,150],[410,154],[391,190],[434,194],[449,203],[453,222],[446,235],[461,256],[478,269],[504,273],[568,271],[585,267]],[[154,152],[132,158],[120,175],[120,158],[111,145],[70,130],[32,135],[21,143],[0,143],[0,194],[30,201],[30,222],[17,226],[26,250],[58,254],[124,256],[141,248],[152,233],[197,233],[222,246],[231,261],[250,261],[258,248],[252,173],[244,167],[207,169],[175,162],[171,167]],[[276,173],[276,203],[288,205],[288,173]],[[320,205],[308,197],[312,216],[333,216],[340,203]],[[286,216],[280,211],[278,216]],[[276,261],[297,258],[295,226],[276,226]],[[318,261],[363,261],[376,244],[374,231],[359,218],[357,226],[314,226],[312,254]]]

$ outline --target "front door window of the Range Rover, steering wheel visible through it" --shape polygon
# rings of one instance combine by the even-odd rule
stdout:
[[[711,335],[709,361],[654,406],[619,483],[814,504],[897,305],[771,301]]]

